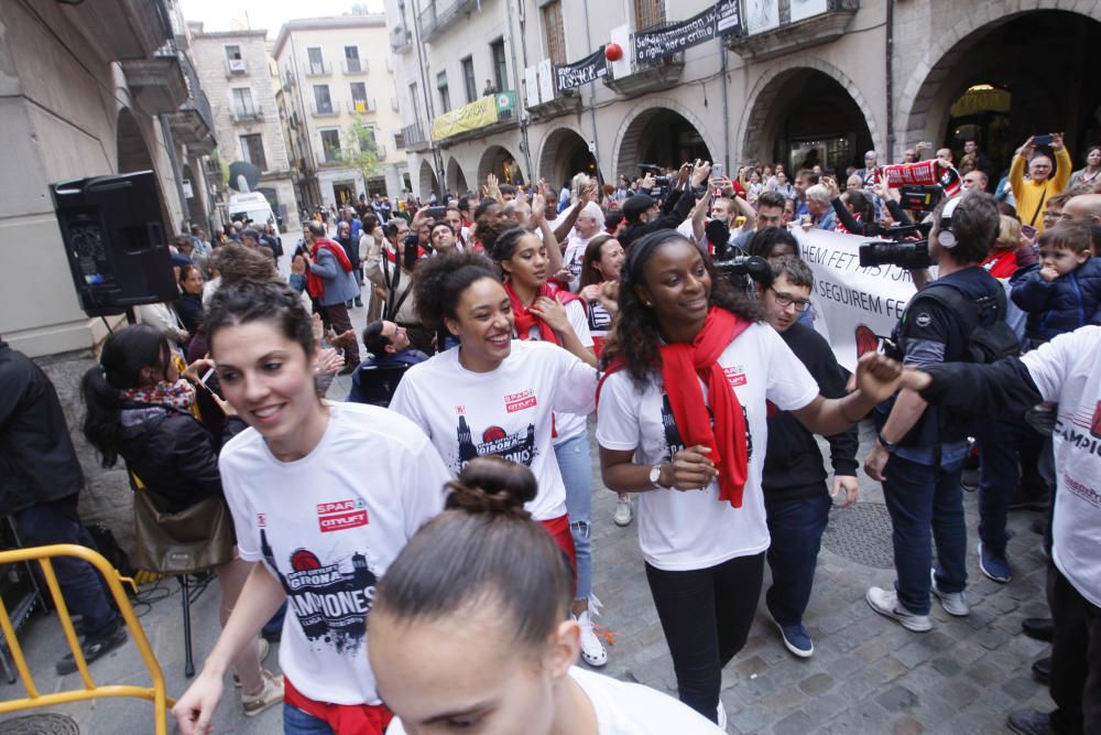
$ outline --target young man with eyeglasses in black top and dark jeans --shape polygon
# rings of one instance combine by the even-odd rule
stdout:
[[[814,273],[798,258],[772,262],[773,281],[761,288],[765,321],[818,381],[822,396],[841,398],[848,372],[838,365],[829,343],[809,326],[798,323],[799,313],[810,306]],[[826,468],[818,442],[787,411],[768,419],[768,446],[764,457],[764,505],[772,545],[768,565],[772,586],[765,605],[780,629],[784,646],[793,655],[807,658],[814,641],[803,625],[810,601],[822,532],[833,502],[842,490],[842,506],[857,501],[857,428],[827,436],[833,467],[832,493],[827,491]]]

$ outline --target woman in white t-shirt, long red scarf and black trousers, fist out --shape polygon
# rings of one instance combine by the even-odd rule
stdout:
[[[768,548],[765,401],[835,434],[891,394],[900,367],[865,355],[859,389],[824,399],[755,307],[671,230],[633,244],[619,304],[599,396],[603,480],[642,494],[639,542],[680,700],[719,722],[721,671],[745,644]]]

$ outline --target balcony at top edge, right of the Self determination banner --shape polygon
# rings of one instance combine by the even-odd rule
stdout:
[[[744,29],[723,36],[723,44],[746,61],[765,61],[797,48],[817,46],[844,35],[860,0],[828,0],[824,13],[792,22],[792,0],[778,0],[780,25],[760,33]]]

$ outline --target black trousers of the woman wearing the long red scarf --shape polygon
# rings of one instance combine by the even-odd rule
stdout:
[[[763,575],[764,552],[686,572],[646,564],[680,701],[711,722],[718,722],[722,669],[745,646]]]

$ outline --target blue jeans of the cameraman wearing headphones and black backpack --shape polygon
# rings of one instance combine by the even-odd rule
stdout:
[[[967,587],[967,526],[963,522],[962,462],[924,465],[898,455],[886,464],[883,498],[891,514],[898,602],[915,615],[929,614],[930,541],[937,543],[937,587]],[[931,533],[930,533],[931,531]]]

